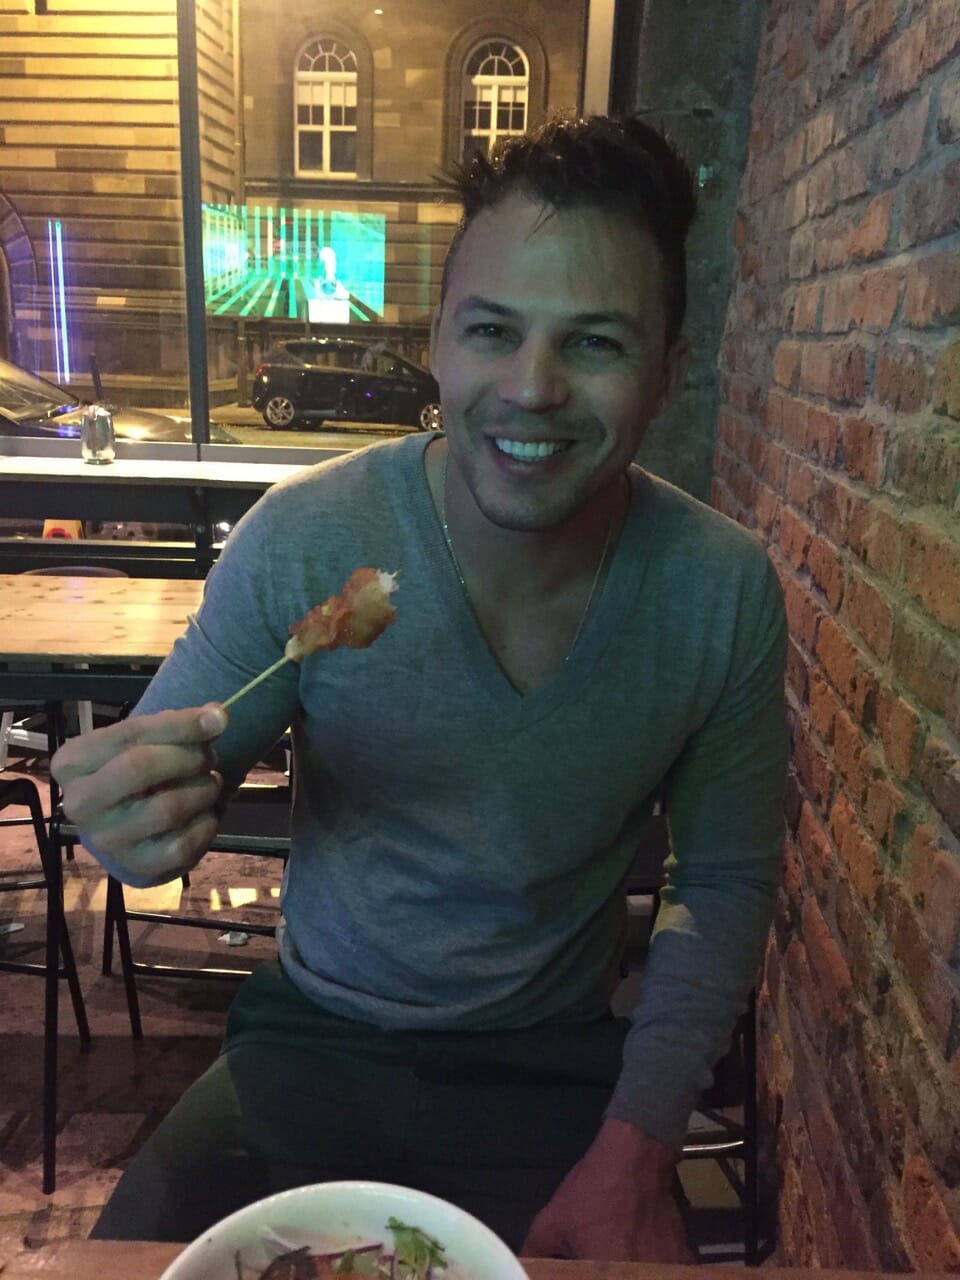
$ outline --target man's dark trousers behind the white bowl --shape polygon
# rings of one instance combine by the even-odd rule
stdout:
[[[189,1240],[273,1192],[358,1178],[452,1201],[518,1249],[600,1125],[626,1027],[381,1032],[262,965],[92,1234]]]

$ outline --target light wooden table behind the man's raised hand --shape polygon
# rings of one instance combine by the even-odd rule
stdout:
[[[202,591],[196,579],[0,573],[0,699],[132,701]]]

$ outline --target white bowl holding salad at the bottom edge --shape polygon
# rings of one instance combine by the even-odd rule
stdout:
[[[444,1245],[448,1266],[435,1271],[438,1280],[527,1280],[503,1240],[463,1210],[410,1187],[358,1181],[294,1187],[247,1204],[198,1236],[160,1280],[237,1280],[238,1249],[252,1266],[266,1267],[278,1252],[265,1247],[268,1228],[294,1248],[312,1244],[317,1252],[389,1245],[389,1217]]]

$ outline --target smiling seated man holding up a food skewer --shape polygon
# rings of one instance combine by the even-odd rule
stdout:
[[[632,465],[686,367],[678,157],[637,120],[552,122],[458,189],[444,435],[271,490],[138,716],[55,758],[87,847],[148,884],[197,861],[288,724],[296,750],[282,968],[241,989],[97,1234],[186,1238],[372,1176],[530,1253],[689,1257],[677,1151],[782,849],[781,593],[748,532]],[[361,564],[398,572],[396,625],[228,724],[216,701]],[[663,790],[671,883],[625,1037],[623,881]]]

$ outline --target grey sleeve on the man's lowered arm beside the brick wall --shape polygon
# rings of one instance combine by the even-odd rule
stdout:
[[[677,1152],[756,980],[783,855],[786,618],[769,561],[758,577],[722,691],[667,780],[667,883],[607,1108]]]

